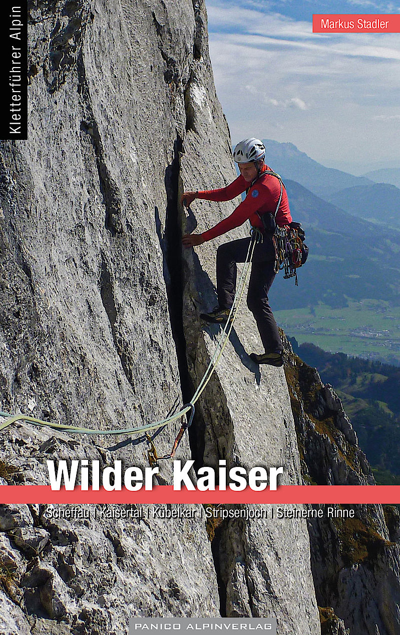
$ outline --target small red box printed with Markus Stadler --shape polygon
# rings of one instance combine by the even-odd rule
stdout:
[[[313,33],[400,33],[400,13],[314,13]]]

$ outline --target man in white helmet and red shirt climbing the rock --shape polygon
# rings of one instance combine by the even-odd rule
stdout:
[[[234,161],[239,166],[240,176],[227,187],[215,190],[183,192],[181,204],[189,207],[194,199],[207,201],[230,201],[246,190],[246,198],[232,214],[203,234],[185,234],[183,246],[190,248],[221,236],[230,229],[239,227],[250,219],[251,225],[263,234],[262,242],[256,244],[251,265],[247,305],[253,313],[258,332],[265,349],[262,354],[251,353],[257,364],[283,365],[283,346],[274,315],[269,306],[268,291],[274,281],[275,249],[272,234],[264,231],[260,217],[265,212],[275,213],[281,196],[281,182],[270,174],[265,164],[265,147],[255,138],[244,139],[234,149]],[[276,212],[276,224],[287,227],[291,215],[286,190],[283,188],[281,202]],[[226,323],[236,293],[237,262],[244,262],[251,238],[240,238],[221,244],[217,250],[217,295],[218,306],[210,313],[201,314],[206,322]],[[232,318],[231,318],[232,319]]]

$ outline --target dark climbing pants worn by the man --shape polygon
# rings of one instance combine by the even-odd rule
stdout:
[[[230,309],[236,292],[237,262],[245,262],[251,238],[222,244],[217,250],[218,304]],[[270,237],[256,244],[251,264],[247,305],[253,313],[265,352],[281,352],[279,331],[268,304],[268,291],[274,281],[274,246]]]

